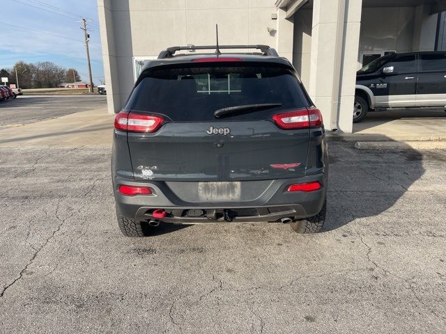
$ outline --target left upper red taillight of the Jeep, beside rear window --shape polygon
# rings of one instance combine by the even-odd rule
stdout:
[[[115,129],[126,132],[155,132],[162,125],[163,119],[159,116],[142,115],[140,113],[116,114]]]

